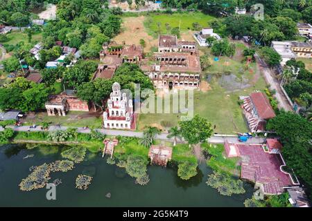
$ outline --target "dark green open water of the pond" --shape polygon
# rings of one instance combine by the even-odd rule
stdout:
[[[84,162],[75,164],[67,173],[51,173],[51,182],[62,180],[56,187],[56,200],[46,200],[47,189],[30,192],[19,190],[31,166],[60,160],[62,146],[44,146],[28,150],[25,144],[0,146],[0,206],[243,206],[252,195],[252,186],[244,184],[246,193],[223,196],[207,186],[205,164],[199,166],[198,175],[184,181],[177,177],[175,166],[148,166],[150,182],[146,186],[135,184],[124,169],[106,163],[101,154],[88,153]],[[27,159],[26,155],[34,155]],[[77,175],[89,171],[93,180],[89,189],[76,189]],[[111,193],[111,198],[105,195]]]

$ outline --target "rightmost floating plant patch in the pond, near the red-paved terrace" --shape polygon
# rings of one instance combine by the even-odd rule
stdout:
[[[213,174],[208,175],[207,185],[218,189],[221,195],[231,196],[233,193],[240,194],[245,193],[243,188],[243,182],[238,179],[234,179],[227,173],[220,173],[214,171]]]

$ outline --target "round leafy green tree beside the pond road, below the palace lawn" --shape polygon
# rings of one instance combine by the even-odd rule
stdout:
[[[179,125],[182,137],[184,137],[189,144],[204,142],[211,137],[213,133],[211,123],[207,122],[207,119],[199,115],[195,115],[189,121],[181,121]]]

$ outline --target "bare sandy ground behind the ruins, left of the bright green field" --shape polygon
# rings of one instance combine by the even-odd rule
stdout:
[[[121,30],[123,31],[114,37],[114,41],[116,41],[117,44],[122,44],[123,41],[125,41],[125,44],[128,45],[139,45],[140,39],[144,39],[146,42],[144,52],[150,52],[152,47],[157,47],[158,39],[154,39],[145,31],[144,19],[144,16],[124,18],[121,26]]]

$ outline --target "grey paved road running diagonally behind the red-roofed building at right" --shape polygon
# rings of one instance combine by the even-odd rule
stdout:
[[[291,107],[291,104],[289,104],[287,98],[285,97],[284,93],[281,91],[281,87],[279,86],[279,81],[273,77],[272,70],[268,67],[266,62],[264,62],[257,53],[254,54],[254,57],[257,60],[257,63],[259,64],[264,79],[266,79],[267,84],[270,84],[270,90],[275,90],[275,97],[278,101],[279,108],[283,108],[285,111],[293,111],[293,108]]]

